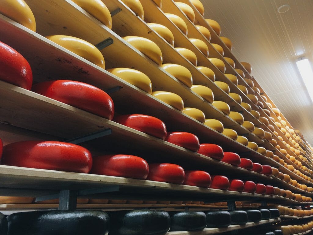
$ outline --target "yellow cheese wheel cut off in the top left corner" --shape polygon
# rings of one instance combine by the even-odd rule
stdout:
[[[33,12],[23,0],[1,1],[0,13],[22,24],[26,28],[36,31],[36,22]]]

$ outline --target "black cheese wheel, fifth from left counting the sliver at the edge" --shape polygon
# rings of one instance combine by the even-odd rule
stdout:
[[[228,227],[231,225],[231,215],[227,211],[208,211],[207,215],[207,227]]]

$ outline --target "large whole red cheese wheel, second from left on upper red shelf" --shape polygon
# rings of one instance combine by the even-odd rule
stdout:
[[[114,116],[111,97],[87,83],[69,80],[45,81],[35,84],[32,91],[109,120]]]

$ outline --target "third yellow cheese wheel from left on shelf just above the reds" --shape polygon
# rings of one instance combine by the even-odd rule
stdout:
[[[150,78],[138,70],[129,68],[114,68],[108,69],[107,71],[149,94],[152,92],[152,83]]]

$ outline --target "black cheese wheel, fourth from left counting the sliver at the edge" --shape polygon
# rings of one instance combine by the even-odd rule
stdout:
[[[170,231],[199,231],[207,227],[207,217],[200,211],[169,212]]]

